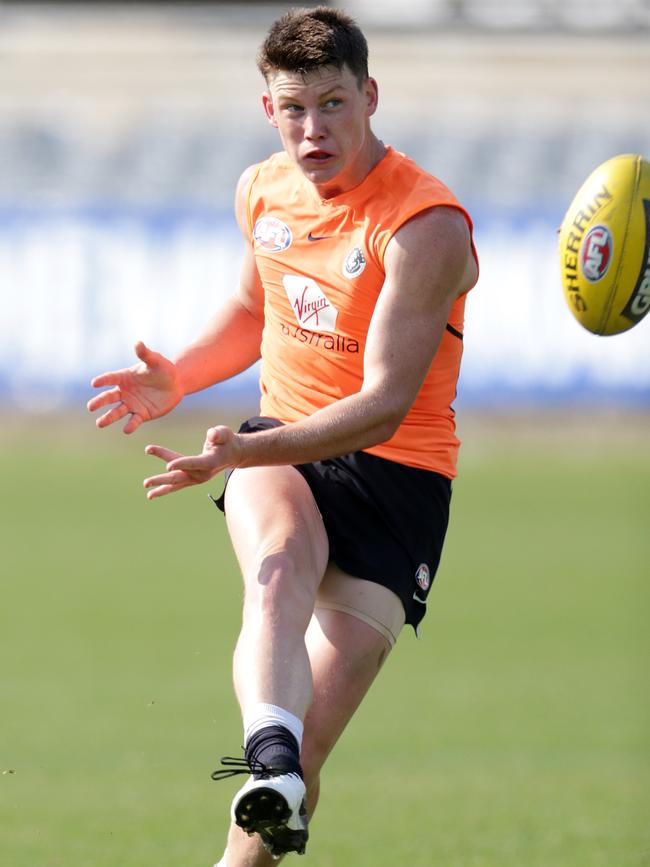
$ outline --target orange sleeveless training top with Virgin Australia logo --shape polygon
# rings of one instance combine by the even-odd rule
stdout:
[[[386,245],[407,220],[435,205],[461,210],[471,232],[469,215],[451,192],[392,148],[359,186],[331,199],[320,199],[285,153],[256,167],[248,219],[265,297],[262,415],[298,421],[360,390]],[[451,404],[464,307],[465,295],[452,307],[449,327],[397,432],[366,451],[454,478],[459,441]]]

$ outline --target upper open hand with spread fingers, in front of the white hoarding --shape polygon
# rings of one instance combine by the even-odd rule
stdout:
[[[93,388],[112,387],[88,401],[89,412],[116,404],[97,419],[97,427],[108,427],[130,414],[124,433],[133,433],[143,421],[160,418],[183,399],[185,393],[172,361],[148,349],[142,341],[136,343],[135,354],[140,364],[102,373],[91,380]]]

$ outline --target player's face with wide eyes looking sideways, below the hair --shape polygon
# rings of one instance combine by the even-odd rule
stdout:
[[[359,86],[347,66],[277,72],[262,101],[284,149],[323,197],[352,189],[377,161],[374,79]]]

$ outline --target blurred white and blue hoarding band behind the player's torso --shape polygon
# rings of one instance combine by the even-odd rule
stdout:
[[[650,405],[650,318],[615,337],[584,331],[560,289],[555,229],[478,220],[460,399]],[[0,401],[81,400],[94,374],[131,363],[139,338],[174,354],[236,286],[240,253],[219,214],[0,217]],[[253,370],[222,393],[255,387]]]

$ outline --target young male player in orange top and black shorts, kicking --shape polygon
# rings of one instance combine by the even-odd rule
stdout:
[[[140,363],[96,377],[109,388],[88,404],[114,404],[98,427],[128,415],[131,433],[262,358],[260,417],[210,428],[200,455],[146,448],[166,464],[144,482],[150,499],[230,471],[218,505],[245,585],[245,760],[214,777],[251,777],[232,804],[227,867],[304,851],[325,759],[404,622],[425,612],[477,278],[467,213],[370,129],[377,84],[350,18],[289,12],[258,63],[284,150],[237,188],[239,288],[174,362],[139,343]]]

